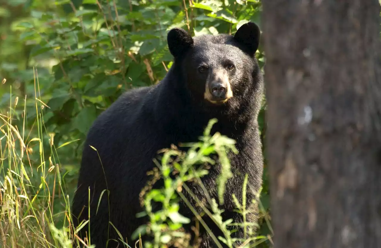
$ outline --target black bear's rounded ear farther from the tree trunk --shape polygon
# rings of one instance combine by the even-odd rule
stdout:
[[[184,29],[174,28],[167,35],[168,48],[173,57],[179,57],[193,45],[193,39]]]

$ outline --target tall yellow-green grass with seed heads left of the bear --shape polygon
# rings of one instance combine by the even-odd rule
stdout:
[[[70,199],[62,184],[54,137],[44,125],[42,109],[48,106],[40,98],[37,77],[34,95],[35,99],[11,97],[9,107],[0,113],[1,242],[3,247],[72,247]],[[28,104],[34,105],[36,114],[30,130],[26,129]]]

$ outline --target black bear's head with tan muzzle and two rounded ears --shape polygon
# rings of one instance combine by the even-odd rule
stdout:
[[[253,22],[234,35],[191,37],[184,29],[168,32],[168,48],[192,99],[210,110],[260,105],[263,77],[255,58],[261,32]],[[259,100],[258,100],[259,99]],[[259,104],[258,104],[259,101]]]

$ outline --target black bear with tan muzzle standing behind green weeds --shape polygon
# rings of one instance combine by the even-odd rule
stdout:
[[[233,176],[226,184],[222,208],[224,218],[242,221],[231,196],[242,199],[243,178],[248,173],[247,202],[251,202],[263,173],[257,117],[264,86],[255,58],[259,37],[260,30],[253,22],[242,25],[234,35],[191,37],[183,29],[171,29],[167,42],[174,63],[165,78],[154,86],[124,93],[99,115],[85,141],[72,205],[76,226],[89,218],[90,188],[91,243],[106,247],[107,239],[113,239],[108,247],[117,246],[119,237],[109,221],[132,243],[131,234],[144,224],[136,217],[142,211],[139,193],[149,179],[146,172],[155,167],[157,151],[171,144],[198,141],[211,118],[218,119],[212,134],[220,132],[237,141],[239,153],[229,155]],[[215,199],[218,175],[219,166],[213,165],[203,178]],[[186,207],[181,213],[193,217]],[[250,213],[247,220],[255,221],[256,216]],[[216,237],[220,234],[218,227],[211,229]],[[80,237],[87,231],[86,225]],[[243,237],[242,229],[234,235]],[[201,247],[214,247],[207,232],[201,232],[200,237]]]

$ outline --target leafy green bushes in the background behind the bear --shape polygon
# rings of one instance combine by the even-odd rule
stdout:
[[[168,29],[183,27],[196,35],[234,33],[247,21],[260,23],[260,13],[261,4],[253,0],[205,0],[192,5],[174,0],[72,4],[36,0],[11,24],[14,39],[29,52],[22,57],[26,68],[18,67],[18,56],[14,63],[2,63],[0,75],[19,97],[33,99],[33,67],[37,68],[41,99],[50,109],[43,111],[49,113],[44,118],[46,129],[54,134],[56,145],[80,139],[77,147],[65,148],[78,158],[87,130],[102,110],[123,91],[155,84],[165,76],[172,60]],[[0,46],[1,51],[11,47]],[[3,61],[9,57],[5,55]],[[258,57],[263,61],[262,51]],[[2,87],[2,92],[3,100],[10,97],[5,95],[9,87]],[[28,103],[30,111],[34,104]],[[36,116],[31,113],[27,118],[29,123]]]

